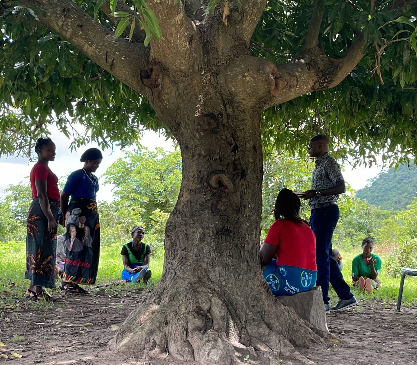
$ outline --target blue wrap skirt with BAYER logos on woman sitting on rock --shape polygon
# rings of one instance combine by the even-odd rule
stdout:
[[[307,292],[316,284],[317,271],[289,265],[277,265],[273,259],[262,270],[274,296]]]

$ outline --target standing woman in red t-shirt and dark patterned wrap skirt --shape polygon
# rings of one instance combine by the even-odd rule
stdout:
[[[38,162],[30,171],[33,201],[26,227],[26,272],[30,280],[26,296],[32,300],[50,299],[43,289],[55,288],[55,251],[60,194],[58,178],[48,167],[55,160],[55,143],[39,138],[35,152]]]

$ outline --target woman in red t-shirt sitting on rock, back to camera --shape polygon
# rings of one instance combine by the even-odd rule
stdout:
[[[306,292],[316,284],[316,237],[300,214],[299,197],[282,189],[276,198],[275,222],[259,251],[264,278],[275,296]]]

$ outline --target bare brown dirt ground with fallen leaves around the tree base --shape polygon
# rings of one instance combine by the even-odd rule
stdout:
[[[107,287],[90,289],[87,296],[58,293],[49,305],[4,292],[0,294],[0,364],[181,365],[169,357],[158,364],[142,364],[108,350],[114,331],[149,292]],[[329,314],[333,337],[329,347],[297,350],[317,365],[417,364],[417,308],[401,313],[395,309],[374,301]],[[301,362],[284,358],[281,363]]]

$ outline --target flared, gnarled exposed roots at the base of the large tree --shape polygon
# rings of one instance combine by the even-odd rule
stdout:
[[[214,288],[201,289],[201,283],[190,284],[188,290],[170,288],[162,300],[163,288],[158,289],[126,319],[113,349],[142,361],[169,354],[200,365],[278,365],[280,356],[314,364],[294,346],[324,345],[311,325],[269,293],[261,301],[240,298],[241,308],[235,309]]]

